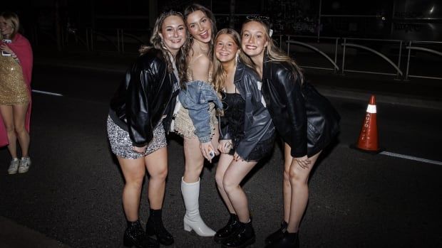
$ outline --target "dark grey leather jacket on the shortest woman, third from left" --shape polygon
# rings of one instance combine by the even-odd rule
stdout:
[[[261,102],[262,94],[258,89],[258,80],[259,76],[252,68],[237,63],[234,83],[241,97],[245,99],[245,134],[236,149],[241,158],[247,158],[259,141],[270,139],[275,133],[272,118]],[[231,139],[228,123],[222,117],[220,139]]]

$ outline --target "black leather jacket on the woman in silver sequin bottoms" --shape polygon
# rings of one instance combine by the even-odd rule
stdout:
[[[168,72],[163,53],[151,48],[126,71],[111,99],[109,114],[115,124],[129,132],[134,146],[145,146],[163,115],[168,132],[178,89],[178,80]]]

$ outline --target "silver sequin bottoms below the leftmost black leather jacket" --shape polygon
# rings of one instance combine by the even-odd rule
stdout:
[[[168,145],[162,122],[153,129],[153,139],[148,144],[144,154],[132,150],[132,140],[130,140],[128,131],[115,124],[111,117],[108,117],[108,138],[112,152],[116,156],[126,159],[141,158]]]

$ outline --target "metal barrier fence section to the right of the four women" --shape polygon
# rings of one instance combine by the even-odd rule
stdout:
[[[296,39],[296,41],[294,40]],[[313,42],[303,42],[305,39],[316,40]],[[283,36],[277,37],[279,40],[279,48],[283,45]],[[321,40],[334,41],[334,59],[327,55],[327,51],[320,48],[323,44]],[[440,71],[440,66],[442,63],[442,42],[436,41],[402,41],[402,40],[386,40],[386,39],[367,39],[367,38],[339,38],[339,37],[321,37],[317,36],[287,36],[285,39],[287,45],[287,55],[291,55],[291,46],[302,46],[303,48],[308,48],[313,52],[319,54],[320,56],[326,58],[329,63],[332,64],[332,68],[329,67],[312,67],[312,66],[302,66],[302,68],[313,68],[320,70],[334,70],[335,73],[345,72],[357,72],[357,73],[367,73],[374,75],[387,75],[394,76],[396,80],[409,80],[410,77],[425,78],[431,80],[442,80],[442,73]],[[367,45],[370,43],[371,45]],[[404,48],[404,44],[406,47]],[[431,48],[428,48],[431,46]],[[363,69],[355,70],[349,68],[349,63],[347,63],[348,50],[355,49],[359,53],[368,53],[374,55],[378,60],[365,61],[366,65],[363,65]],[[386,51],[385,51],[386,50]],[[406,61],[404,61],[404,53],[408,50]],[[413,53],[414,51],[414,53]],[[330,51],[328,51],[330,53]],[[431,55],[436,55],[436,58],[428,58],[423,56],[422,53],[425,52]],[[339,68],[338,55],[341,55],[341,68]],[[296,55],[292,55],[296,57]],[[357,57],[357,56],[354,56]],[[418,60],[418,63],[412,63],[411,59],[414,58]],[[389,68],[382,68],[384,70],[373,70],[376,66],[369,65],[370,63],[387,63]],[[406,64],[405,67],[403,64]],[[354,64],[352,64],[354,65]],[[379,68],[379,66],[377,66]],[[411,68],[415,71],[421,72],[421,74],[411,74]],[[387,71],[385,71],[387,70]],[[432,70],[432,71],[429,71]],[[404,71],[406,71],[404,73]],[[422,74],[424,73],[424,74]],[[436,74],[440,75],[436,75]]]

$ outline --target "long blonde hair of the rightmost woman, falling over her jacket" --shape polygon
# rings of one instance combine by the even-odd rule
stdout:
[[[269,58],[269,61],[274,62],[282,62],[286,65],[288,64],[289,67],[293,71],[294,77],[297,77],[299,75],[300,82],[304,82],[304,75],[302,74],[301,68],[299,68],[299,65],[294,61],[294,59],[290,58],[289,56],[285,55],[284,52],[282,52],[281,49],[278,48],[278,46],[274,43],[272,37],[270,37],[270,28],[267,23],[262,21],[260,18],[250,18],[247,19],[244,23],[242,23],[242,27],[244,27],[245,23],[249,23],[250,21],[256,21],[257,23],[260,23],[262,27],[264,28],[264,36],[267,39],[267,48],[264,50],[264,54],[267,55]],[[242,34],[242,31],[241,31]],[[256,68],[256,65],[255,65]]]

